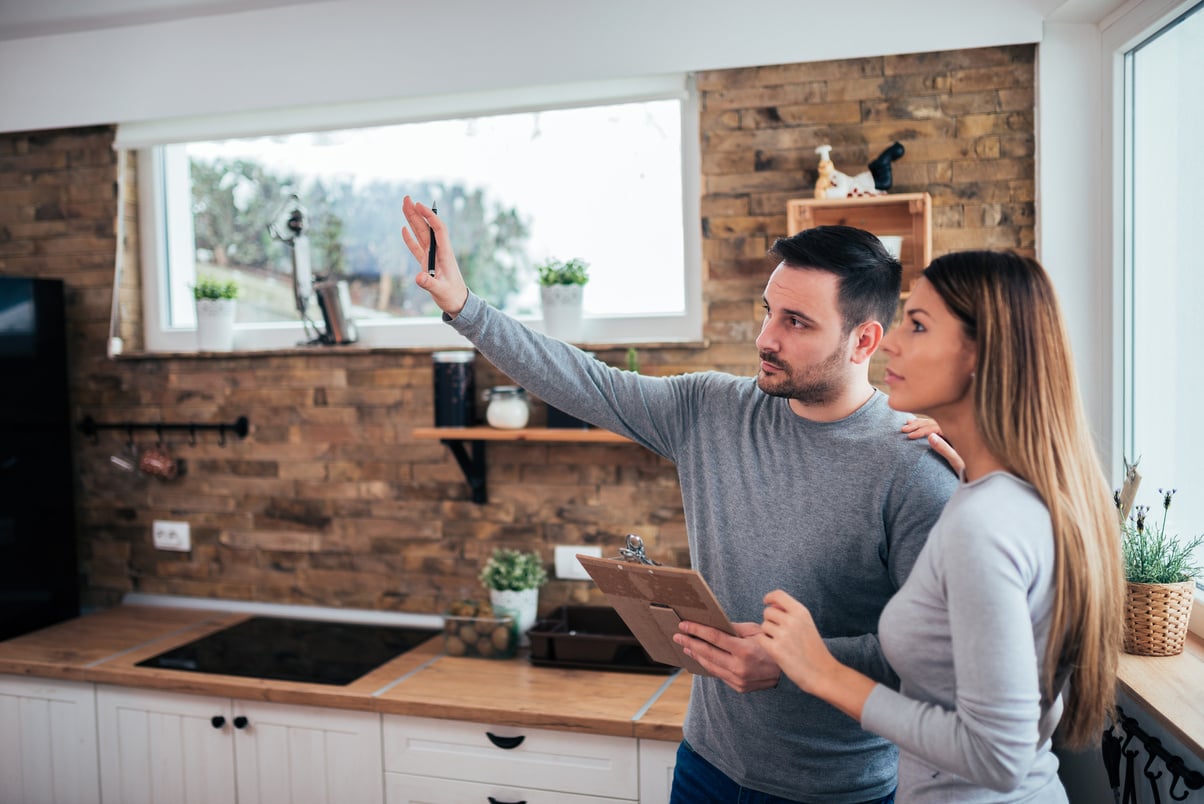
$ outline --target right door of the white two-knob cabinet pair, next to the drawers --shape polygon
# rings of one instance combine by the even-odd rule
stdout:
[[[253,700],[234,714],[238,804],[384,800],[380,715]]]

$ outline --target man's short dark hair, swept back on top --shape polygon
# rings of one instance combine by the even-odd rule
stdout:
[[[793,268],[837,276],[837,303],[845,333],[870,320],[879,321],[884,331],[891,327],[898,311],[903,265],[874,235],[854,226],[815,226],[779,237],[769,254]]]

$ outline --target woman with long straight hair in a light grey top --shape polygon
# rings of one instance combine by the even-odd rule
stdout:
[[[899,802],[1066,802],[1050,735],[1087,745],[1111,710],[1123,577],[1052,285],[1010,253],[939,258],[881,348],[891,407],[939,421],[964,461],[879,622],[899,691],[833,658],[781,590],[760,638],[899,746]]]

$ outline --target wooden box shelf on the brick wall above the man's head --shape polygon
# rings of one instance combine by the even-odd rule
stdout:
[[[904,295],[932,261],[932,196],[927,193],[786,201],[786,226],[791,235],[811,226],[837,224],[903,238],[899,262],[903,264]]]

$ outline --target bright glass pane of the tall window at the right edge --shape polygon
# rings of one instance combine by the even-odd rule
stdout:
[[[1202,12],[1125,55],[1123,445],[1138,502],[1181,538],[1204,531]],[[1159,489],[1175,490],[1167,512]]]

